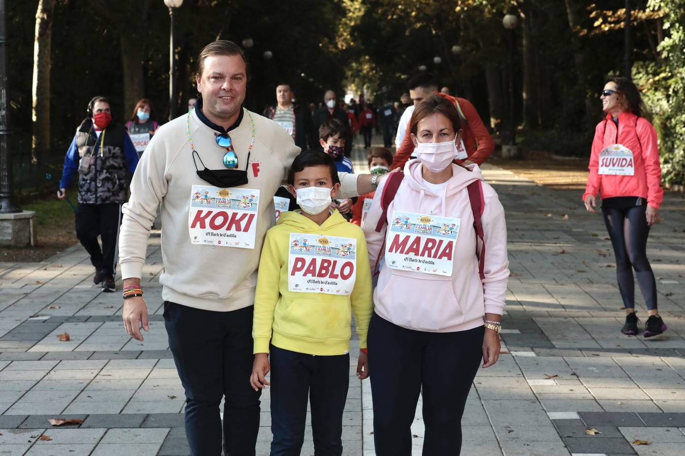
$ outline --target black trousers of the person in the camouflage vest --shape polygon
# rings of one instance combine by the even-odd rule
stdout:
[[[103,275],[116,271],[121,204],[82,204],[76,208],[76,237],[90,255],[90,263]],[[102,239],[102,250],[97,237]]]

